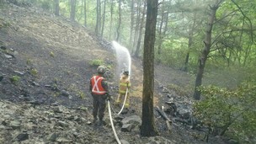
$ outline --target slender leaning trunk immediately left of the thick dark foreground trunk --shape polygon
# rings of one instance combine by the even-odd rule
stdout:
[[[143,27],[144,27],[144,19],[145,19],[145,14],[146,14],[146,7],[147,7],[147,2],[146,2],[146,0],[144,0],[144,7],[143,7],[143,11],[142,11],[142,19],[141,19],[139,35],[138,35],[139,37],[138,37],[138,41],[137,41],[137,45],[136,45],[136,51],[135,51],[135,54],[134,54],[135,57],[139,57],[139,55],[140,55],[141,37],[142,37],[142,31],[143,31]]]

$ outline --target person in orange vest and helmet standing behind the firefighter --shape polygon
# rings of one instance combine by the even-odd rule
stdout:
[[[106,68],[104,66],[99,66],[97,68],[98,75],[93,76],[90,80],[90,91],[93,96],[93,123],[95,123],[99,117],[99,124],[103,125],[105,125],[103,118],[106,100],[110,99],[108,83],[103,77],[105,71]]]

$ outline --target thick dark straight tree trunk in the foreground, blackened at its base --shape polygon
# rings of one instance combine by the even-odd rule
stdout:
[[[141,136],[156,136],[153,114],[154,44],[156,40],[157,0],[147,0],[147,20],[143,54],[143,92]]]

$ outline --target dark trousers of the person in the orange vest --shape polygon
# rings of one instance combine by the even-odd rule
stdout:
[[[93,95],[93,118],[97,120],[97,115],[99,120],[103,120],[104,118],[104,111],[106,109],[106,99],[107,96],[104,95]]]

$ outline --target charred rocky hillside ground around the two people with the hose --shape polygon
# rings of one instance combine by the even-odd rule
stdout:
[[[89,79],[96,72],[90,64],[93,60],[115,66],[110,42],[39,8],[10,3],[0,7],[0,143],[115,143],[109,125],[91,124],[88,91]],[[155,106],[164,105],[170,95],[174,103],[193,103],[188,86],[193,78],[188,73],[158,65],[155,70]],[[141,116],[141,60],[132,59],[131,72],[133,110],[122,117]],[[115,79],[109,81],[114,82],[115,99],[118,84]],[[163,87],[169,88],[169,94]],[[124,132],[115,125],[117,135],[129,143],[206,143],[204,131],[179,122],[168,131],[163,118],[154,113],[159,136],[141,137],[138,127]],[[108,115],[106,110],[106,121]],[[208,143],[225,142],[209,136]]]

